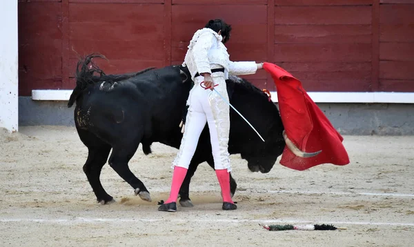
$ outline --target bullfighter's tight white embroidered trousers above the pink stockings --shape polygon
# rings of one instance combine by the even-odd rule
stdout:
[[[215,90],[228,101],[224,73],[214,72],[211,77],[215,85],[218,84],[218,86],[215,86]],[[230,107],[221,99],[217,92],[202,88],[200,86],[202,81],[204,81],[204,77],[196,77],[195,85],[190,91],[185,131],[177,157],[172,162],[172,168],[180,166],[188,169],[197,148],[201,131],[207,123],[210,131],[210,143],[215,169],[227,169],[230,172],[231,167],[228,154]],[[203,151],[201,150],[201,152]]]

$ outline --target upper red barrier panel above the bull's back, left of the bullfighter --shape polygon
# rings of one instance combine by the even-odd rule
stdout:
[[[70,48],[80,55],[164,60],[164,23],[159,23],[164,5],[70,3],[69,8]],[[77,59],[76,52],[70,59]]]

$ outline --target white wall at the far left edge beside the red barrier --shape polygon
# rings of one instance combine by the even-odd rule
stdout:
[[[18,131],[17,0],[0,0],[0,128]]]

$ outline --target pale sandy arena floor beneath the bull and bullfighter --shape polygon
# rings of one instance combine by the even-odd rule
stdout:
[[[117,203],[101,206],[83,174],[87,149],[75,128],[0,130],[0,246],[413,246],[414,137],[344,137],[348,166],[251,173],[233,155],[238,209],[221,210],[215,172],[201,164],[194,208],[157,211],[177,150],[154,144],[130,162],[152,203],[113,171],[101,181]],[[270,232],[259,224],[334,224],[347,230]]]

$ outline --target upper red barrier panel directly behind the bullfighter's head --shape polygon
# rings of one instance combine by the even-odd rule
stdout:
[[[233,27],[231,39],[226,43],[230,59],[266,61],[266,15],[266,6],[172,6],[172,61],[184,60],[195,31],[209,19],[222,17]]]

